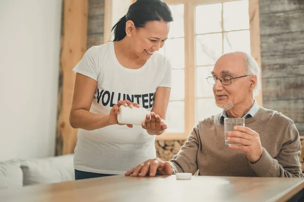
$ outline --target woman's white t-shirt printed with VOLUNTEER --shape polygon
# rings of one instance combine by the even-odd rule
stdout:
[[[90,112],[109,114],[118,100],[129,99],[151,111],[158,87],[171,87],[172,68],[162,55],[153,56],[139,69],[127,69],[117,60],[114,43],[93,46],[74,72],[97,81]],[[156,158],[155,136],[141,126],[111,125],[88,131],[79,129],[74,169],[102,174],[124,174],[138,164]]]

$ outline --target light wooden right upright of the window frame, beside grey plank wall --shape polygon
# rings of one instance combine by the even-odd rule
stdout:
[[[260,24],[259,24],[259,5],[258,0],[248,1],[249,6],[249,27],[250,27],[250,51],[251,56],[256,60],[261,68],[261,40],[260,40]],[[262,94],[262,73],[260,73],[260,90],[255,97],[256,102],[263,106]]]

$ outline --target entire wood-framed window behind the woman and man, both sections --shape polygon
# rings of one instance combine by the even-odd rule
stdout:
[[[256,0],[168,0],[174,22],[159,53],[172,63],[172,89],[166,120],[158,139],[186,139],[194,125],[222,111],[214,102],[210,76],[225,53],[243,51],[260,63]],[[255,15],[253,15],[255,13]],[[249,23],[249,17],[252,22]],[[250,43],[255,41],[255,43]],[[261,97],[256,98],[261,105]]]

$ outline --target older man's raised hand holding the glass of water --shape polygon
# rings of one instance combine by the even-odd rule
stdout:
[[[250,128],[235,126],[235,131],[226,132],[229,142],[237,142],[243,145],[229,144],[232,149],[244,151],[251,163],[256,163],[262,156],[263,149],[259,134]]]

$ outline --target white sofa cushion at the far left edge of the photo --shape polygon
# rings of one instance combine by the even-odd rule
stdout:
[[[19,160],[0,162],[0,189],[23,185]]]

